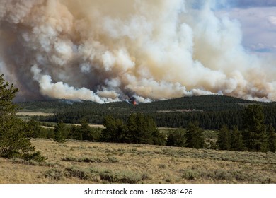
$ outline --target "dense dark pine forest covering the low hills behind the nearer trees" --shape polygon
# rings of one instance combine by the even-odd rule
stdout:
[[[127,121],[132,113],[143,113],[154,118],[157,127],[187,128],[189,122],[198,121],[202,129],[242,128],[242,112],[247,105],[263,106],[265,124],[276,127],[276,103],[260,103],[222,95],[192,96],[172,100],[132,105],[127,101],[98,104],[88,101],[45,100],[18,103],[22,111],[54,112],[52,116],[37,116],[44,122],[103,124],[107,115]]]

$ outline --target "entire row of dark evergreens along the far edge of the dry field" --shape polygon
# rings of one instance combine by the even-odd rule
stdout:
[[[120,118],[108,115],[103,120],[104,129],[94,129],[88,126],[86,120],[81,126],[71,125],[66,127],[63,122],[58,122],[54,129],[42,133],[38,122],[30,120],[33,127],[33,137],[53,138],[54,141],[65,139],[132,143],[155,144],[166,146],[213,148],[230,151],[276,151],[276,133],[272,124],[265,124],[265,116],[261,105],[248,105],[242,114],[242,127],[229,128],[223,124],[219,129],[217,141],[205,141],[200,122],[189,122],[188,127],[172,130],[163,134],[156,127],[153,117],[142,113],[129,115],[127,122]],[[36,127],[35,127],[36,126]],[[45,129],[44,129],[45,131]]]

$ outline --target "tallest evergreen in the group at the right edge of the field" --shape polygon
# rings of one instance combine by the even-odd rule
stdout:
[[[248,151],[268,151],[263,107],[248,105],[243,112],[243,144]]]

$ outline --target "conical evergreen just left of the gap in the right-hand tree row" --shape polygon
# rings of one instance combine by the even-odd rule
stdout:
[[[202,132],[203,130],[199,127],[199,122],[190,122],[185,133],[185,146],[190,148],[203,148],[205,139]]]

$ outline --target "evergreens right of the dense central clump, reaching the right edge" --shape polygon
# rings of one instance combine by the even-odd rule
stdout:
[[[229,151],[256,151],[256,152],[275,152],[276,151],[276,133],[272,124],[266,124],[265,115],[263,113],[263,106],[254,104],[248,105],[242,112],[242,124],[239,129],[237,126],[229,127],[223,124],[219,129],[217,142],[211,141],[209,146],[202,141],[202,129],[198,127],[198,123],[188,125],[188,130],[178,129],[176,132],[171,132],[168,136],[168,146],[188,146],[193,148],[214,148],[219,150]],[[193,129],[193,130],[191,130]],[[201,144],[188,143],[185,141],[189,138],[188,134],[193,132],[195,142],[202,142]],[[197,134],[197,135],[196,135]],[[195,146],[200,145],[200,146]]]

